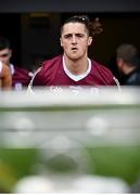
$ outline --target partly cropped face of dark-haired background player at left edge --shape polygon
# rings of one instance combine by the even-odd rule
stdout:
[[[0,50],[0,61],[9,65],[12,52],[10,49]]]

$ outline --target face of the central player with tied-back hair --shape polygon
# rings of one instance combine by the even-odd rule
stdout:
[[[64,53],[71,60],[79,60],[87,56],[88,46],[92,42],[86,26],[81,23],[65,24],[60,40]]]

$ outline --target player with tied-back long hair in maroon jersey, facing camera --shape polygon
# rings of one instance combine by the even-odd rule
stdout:
[[[115,86],[112,73],[88,57],[88,47],[96,34],[102,31],[98,20],[91,23],[87,15],[72,16],[61,28],[63,55],[46,61],[36,72],[29,89],[50,87],[100,87]]]

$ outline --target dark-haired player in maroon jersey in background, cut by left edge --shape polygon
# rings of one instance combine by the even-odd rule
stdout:
[[[0,37],[0,61],[10,67],[12,75],[12,88],[14,90],[22,90],[28,86],[33,75],[27,69],[20,68],[11,64],[11,56],[12,50],[10,41],[4,37]]]

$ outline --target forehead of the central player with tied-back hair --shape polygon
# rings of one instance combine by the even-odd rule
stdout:
[[[66,23],[63,26],[62,34],[87,34],[87,28],[81,23]]]

